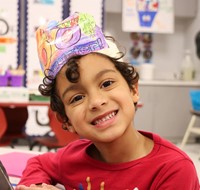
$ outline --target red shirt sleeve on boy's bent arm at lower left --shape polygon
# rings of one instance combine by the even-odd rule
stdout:
[[[19,185],[47,183],[55,185],[59,181],[60,157],[62,151],[48,152],[28,160]]]

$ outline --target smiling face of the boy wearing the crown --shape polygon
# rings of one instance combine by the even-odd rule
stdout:
[[[114,141],[133,127],[137,88],[131,90],[114,64],[101,55],[86,55],[78,64],[77,83],[66,79],[67,66],[56,79],[69,125],[81,137],[94,142]]]

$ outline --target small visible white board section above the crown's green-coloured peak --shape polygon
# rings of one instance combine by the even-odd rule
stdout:
[[[104,28],[104,0],[71,0],[69,12],[83,12],[93,15],[96,20],[96,24],[100,28]]]

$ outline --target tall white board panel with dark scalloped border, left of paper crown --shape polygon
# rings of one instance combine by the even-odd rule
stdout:
[[[26,0],[26,86],[29,89],[37,90],[43,79],[37,54],[35,31],[38,26],[48,23],[50,20],[61,21],[63,19],[63,3],[63,0]]]

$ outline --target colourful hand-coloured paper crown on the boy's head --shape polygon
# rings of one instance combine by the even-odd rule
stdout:
[[[61,22],[50,21],[37,29],[36,40],[42,70],[53,78],[73,56],[99,52],[116,57],[119,52],[87,13],[74,13]]]

